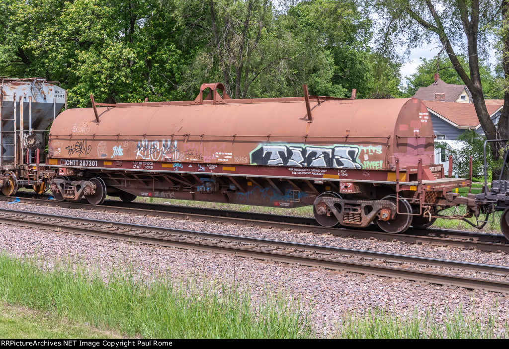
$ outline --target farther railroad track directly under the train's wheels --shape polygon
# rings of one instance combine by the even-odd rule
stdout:
[[[19,193],[21,194],[21,193]],[[430,245],[437,247],[460,247],[489,252],[509,253],[509,242],[499,234],[487,234],[465,231],[447,231],[440,229],[410,229],[405,234],[389,234],[370,229],[353,228],[325,228],[318,226],[313,218],[283,216],[275,214],[251,213],[230,210],[217,210],[210,208],[196,208],[185,206],[171,206],[148,203],[124,203],[107,200],[104,205],[95,206],[84,202],[59,202],[33,195],[20,195],[18,197],[2,197],[3,201],[19,200],[25,203],[52,205],[75,209],[94,209],[107,212],[135,213],[146,215],[159,215],[165,217],[192,218],[219,223],[243,224],[258,227],[268,227],[283,230],[305,231],[314,234],[331,234],[339,237],[355,237],[361,239],[377,239],[381,241],[400,241]]]

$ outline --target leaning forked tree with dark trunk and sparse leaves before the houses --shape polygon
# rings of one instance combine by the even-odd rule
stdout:
[[[468,87],[479,122],[488,139],[507,137],[507,108],[500,117],[498,127],[490,118],[484,101],[480,55],[485,54],[488,43],[488,28],[499,16],[500,3],[478,0],[379,0],[379,9],[384,11],[386,34],[395,27],[402,28],[409,48],[422,40],[438,39],[443,45],[451,65]],[[463,44],[463,35],[466,45]],[[459,53],[468,57],[468,70],[461,64]],[[507,96],[505,97],[507,98]],[[499,156],[502,145],[494,146],[493,155]]]

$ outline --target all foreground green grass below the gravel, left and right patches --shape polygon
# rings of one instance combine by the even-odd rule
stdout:
[[[49,268],[49,269],[48,269]],[[46,269],[46,270],[44,270]],[[97,272],[71,263],[15,259],[0,253],[0,337],[2,338],[314,338],[302,305],[279,292],[265,292],[253,305],[248,285],[195,279],[172,283],[162,277]],[[288,295],[291,296],[291,295]],[[340,297],[340,296],[338,296]],[[10,304],[8,306],[2,304]],[[14,306],[13,306],[14,305]],[[313,306],[310,305],[313,311]],[[496,307],[480,320],[461,308],[417,309],[398,315],[378,308],[345,313],[335,338],[504,338],[505,318]],[[51,314],[51,315],[49,315]],[[90,325],[89,325],[90,324]]]

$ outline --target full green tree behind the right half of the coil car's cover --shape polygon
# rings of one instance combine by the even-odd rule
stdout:
[[[305,34],[309,45],[306,54],[317,48],[333,60],[330,88],[317,94],[350,97],[357,89],[357,98],[400,97],[401,65],[395,56],[381,56],[373,51],[373,21],[354,0],[313,0],[299,2],[287,10],[295,23],[296,37]],[[317,47],[318,46],[318,47]],[[343,88],[343,95],[334,89]]]

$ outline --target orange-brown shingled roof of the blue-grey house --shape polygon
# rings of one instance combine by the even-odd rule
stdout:
[[[497,101],[497,102],[495,102]],[[448,103],[422,101],[428,109],[460,129],[477,128],[479,119],[471,103]],[[503,100],[487,100],[486,108],[490,117],[503,107]]]

